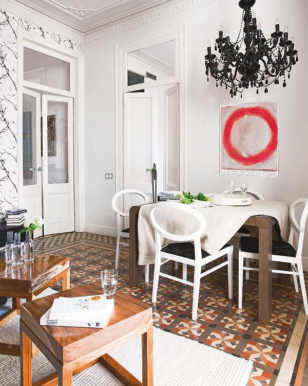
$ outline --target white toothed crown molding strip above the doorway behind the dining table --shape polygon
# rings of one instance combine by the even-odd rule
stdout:
[[[127,29],[131,29],[162,19],[163,17],[168,17],[179,12],[187,11],[191,8],[200,7],[205,4],[215,3],[217,1],[218,0],[181,0],[178,2],[174,2],[171,5],[155,9],[153,11],[123,21],[121,23],[114,24],[101,30],[85,34],[84,43],[103,39],[113,33],[122,32]]]

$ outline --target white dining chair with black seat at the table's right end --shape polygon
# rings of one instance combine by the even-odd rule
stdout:
[[[303,210],[300,216],[300,222],[297,222],[295,210],[298,205],[303,204]],[[284,273],[293,275],[295,290],[298,292],[297,276],[303,296],[305,314],[308,315],[307,295],[302,266],[302,250],[305,235],[305,225],[308,215],[308,199],[300,198],[290,207],[289,217],[291,221],[291,230],[288,242],[273,240],[272,255],[273,261],[287,262],[291,264],[291,271],[273,269],[273,273]],[[244,259],[259,258],[259,239],[257,237],[241,237],[239,250],[239,308],[242,308],[243,299],[243,270],[258,271],[258,268],[244,266]]]

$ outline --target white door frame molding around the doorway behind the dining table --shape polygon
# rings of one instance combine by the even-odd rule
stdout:
[[[114,45],[115,73],[115,192],[123,189],[123,94],[139,90],[140,84],[127,86],[127,54],[143,47],[175,40],[175,77],[161,81],[149,81],[142,84],[142,89],[155,86],[179,84],[179,135],[180,135],[180,190],[186,190],[187,183],[187,94],[186,94],[186,23],[170,28],[147,33]]]

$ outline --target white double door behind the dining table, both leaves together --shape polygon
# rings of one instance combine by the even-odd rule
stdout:
[[[151,172],[156,163],[157,192],[179,189],[179,87],[153,87],[123,96],[123,186],[143,191],[152,202]],[[138,201],[139,200],[139,201]],[[140,203],[130,195],[125,211]]]

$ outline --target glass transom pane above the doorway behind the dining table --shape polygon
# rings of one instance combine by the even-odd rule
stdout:
[[[127,86],[175,77],[175,40],[127,54]]]

